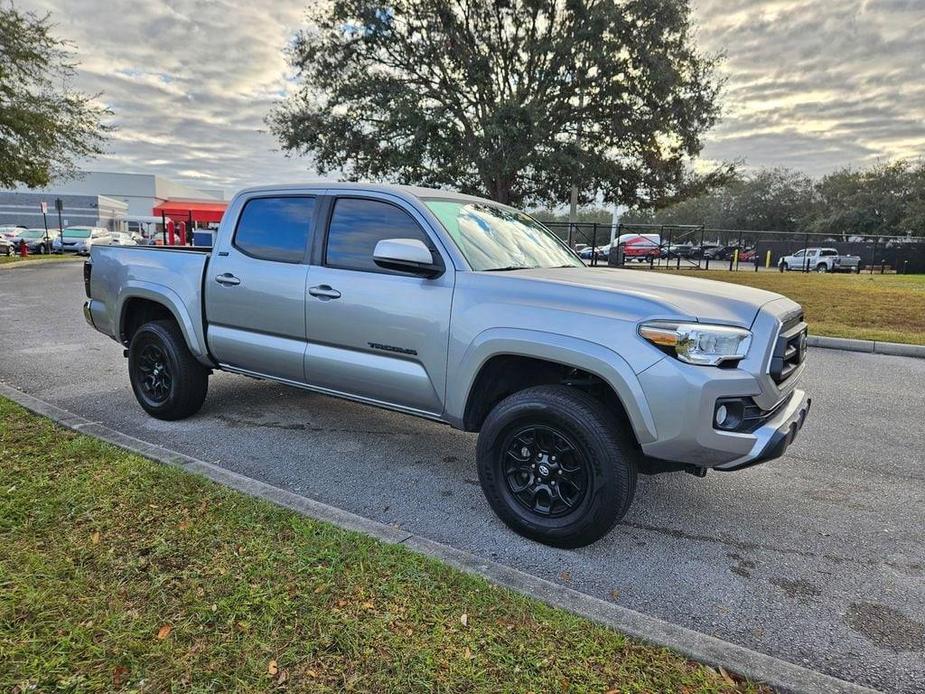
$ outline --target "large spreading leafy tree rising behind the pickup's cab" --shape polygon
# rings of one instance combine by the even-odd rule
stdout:
[[[330,0],[268,123],[320,173],[651,204],[725,171],[688,171],[720,89],[693,43],[687,0]]]

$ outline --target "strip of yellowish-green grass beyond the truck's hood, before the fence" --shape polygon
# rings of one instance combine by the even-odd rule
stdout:
[[[925,344],[925,275],[681,272],[788,296],[806,310],[813,335]]]

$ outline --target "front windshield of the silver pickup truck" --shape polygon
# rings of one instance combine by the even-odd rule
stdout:
[[[473,270],[584,267],[549,229],[522,212],[484,203],[425,200]]]

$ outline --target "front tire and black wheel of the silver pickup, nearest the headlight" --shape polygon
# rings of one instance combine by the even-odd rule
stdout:
[[[569,386],[535,386],[502,400],[485,419],[479,482],[514,532],[583,547],[626,514],[640,455],[629,427],[600,401]]]

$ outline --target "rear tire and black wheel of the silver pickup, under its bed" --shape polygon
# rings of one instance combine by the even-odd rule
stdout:
[[[196,414],[209,389],[209,370],[196,361],[172,320],[145,323],[135,332],[128,373],[138,404],[157,419]]]

